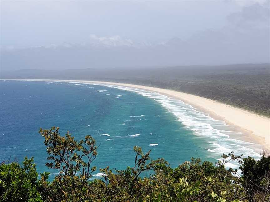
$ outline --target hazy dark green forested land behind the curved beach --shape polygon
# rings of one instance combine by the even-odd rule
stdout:
[[[17,70],[1,78],[112,81],[173,89],[270,116],[270,65],[175,66],[134,69]]]

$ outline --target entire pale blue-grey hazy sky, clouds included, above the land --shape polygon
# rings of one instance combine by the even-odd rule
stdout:
[[[270,62],[270,1],[1,0],[0,9],[0,47],[4,50],[45,47],[52,54],[63,46],[76,55],[74,45],[86,45],[95,55],[87,59],[92,65],[104,62],[104,55],[120,60],[121,54],[133,65]],[[104,49],[102,56],[99,49],[93,49],[100,46],[114,49]],[[126,46],[134,49],[127,51]],[[34,54],[38,51],[48,52]],[[59,58],[67,50],[61,51]],[[79,57],[90,52],[84,50]],[[23,54],[1,53],[1,65],[8,68],[12,60],[25,61]],[[128,59],[126,63],[108,61],[125,66]]]

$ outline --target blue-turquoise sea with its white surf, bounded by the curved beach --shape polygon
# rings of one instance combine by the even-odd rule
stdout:
[[[113,86],[115,87],[115,86]],[[49,170],[39,128],[59,126],[76,139],[93,136],[98,156],[93,166],[125,169],[134,162],[133,146],[151,150],[172,167],[200,157],[216,162],[235,151],[258,156],[252,143],[229,137],[222,121],[179,100],[127,87],[63,82],[0,81],[0,153],[21,162],[34,156],[37,171]],[[98,172],[96,173],[98,176]]]

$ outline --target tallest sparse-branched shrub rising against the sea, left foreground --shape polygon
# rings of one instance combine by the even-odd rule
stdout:
[[[60,136],[59,127],[50,130],[40,128],[39,133],[44,137],[48,157],[46,166],[60,170],[52,183],[48,183],[48,173],[40,180],[42,196],[48,201],[83,201],[89,190],[89,179],[96,167],[91,162],[96,158],[96,141],[90,136],[84,140],[75,140],[69,132],[65,137]]]

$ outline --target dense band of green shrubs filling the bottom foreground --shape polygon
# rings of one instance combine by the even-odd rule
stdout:
[[[47,146],[47,167],[61,172],[52,182],[48,172],[38,176],[33,158],[0,164],[0,201],[205,201],[240,202],[270,200],[270,156],[262,154],[256,161],[232,153],[213,165],[191,158],[177,168],[164,159],[150,160],[150,151],[143,153],[135,146],[133,167],[126,170],[100,169],[102,179],[91,179],[96,167],[95,140],[87,135],[75,140],[68,132],[59,135],[59,128],[40,129]],[[228,161],[238,161],[237,170],[225,169]],[[151,177],[142,173],[152,171]]]

